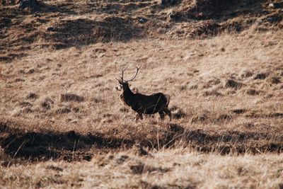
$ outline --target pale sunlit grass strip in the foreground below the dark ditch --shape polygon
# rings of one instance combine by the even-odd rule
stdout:
[[[219,156],[187,149],[135,149],[92,161],[9,166],[0,183],[11,188],[282,188],[283,157]]]

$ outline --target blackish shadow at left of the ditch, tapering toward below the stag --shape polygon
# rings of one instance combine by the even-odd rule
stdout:
[[[0,125],[0,145],[12,158],[23,158],[31,161],[62,159],[65,161],[91,160],[93,154],[132,146],[132,140],[105,138],[99,134],[78,134],[69,132],[25,132]]]

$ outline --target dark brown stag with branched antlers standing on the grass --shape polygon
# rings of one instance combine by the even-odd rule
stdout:
[[[125,80],[124,79],[124,71],[127,69],[125,67],[122,69],[122,76],[120,79],[117,79],[119,82],[119,86],[116,87],[117,91],[121,91],[120,99],[122,103],[128,105],[137,113],[136,121],[139,118],[142,120],[142,114],[154,114],[159,113],[161,120],[167,114],[171,120],[171,112],[168,110],[168,104],[170,102],[170,96],[164,93],[153,93],[149,96],[143,95],[141,93],[133,93],[129,88],[129,81],[133,81],[138,72],[140,67],[136,67],[136,74],[132,77],[132,79]]]

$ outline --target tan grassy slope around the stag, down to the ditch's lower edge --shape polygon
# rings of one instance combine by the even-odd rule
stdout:
[[[281,153],[282,36],[249,30],[206,40],[99,43],[16,59],[1,72],[1,147],[11,158],[34,161],[90,160],[135,144]],[[131,88],[171,95],[172,122],[156,116],[134,122],[134,112],[112,91],[125,61],[142,65]]]

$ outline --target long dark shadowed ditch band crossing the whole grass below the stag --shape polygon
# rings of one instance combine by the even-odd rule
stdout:
[[[62,159],[64,161],[90,161],[95,154],[131,149],[134,144],[149,149],[189,147],[203,153],[261,154],[282,153],[283,137],[264,132],[227,131],[224,134],[204,130],[186,130],[170,124],[161,129],[161,137],[144,139],[132,136],[129,139],[98,132],[78,134],[69,132],[25,132],[0,124],[0,145],[12,158],[30,161]]]

